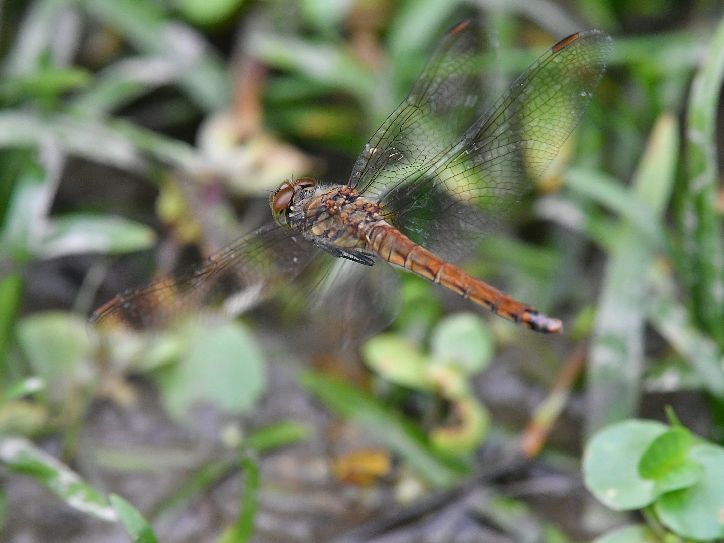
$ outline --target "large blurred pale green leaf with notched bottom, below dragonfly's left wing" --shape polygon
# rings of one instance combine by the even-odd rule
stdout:
[[[266,390],[266,365],[253,335],[238,322],[188,329],[188,350],[159,370],[161,398],[177,420],[198,401],[225,411],[250,411]]]

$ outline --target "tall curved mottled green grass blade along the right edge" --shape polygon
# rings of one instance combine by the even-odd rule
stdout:
[[[694,77],[686,119],[686,178],[679,219],[685,279],[694,312],[719,345],[724,345],[724,239],[716,209],[717,111],[724,81],[724,21],[712,38],[707,60]]]

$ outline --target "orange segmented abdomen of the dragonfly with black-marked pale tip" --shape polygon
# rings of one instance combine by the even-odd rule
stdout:
[[[367,236],[369,248],[384,260],[439,283],[463,298],[489,309],[504,319],[536,332],[560,332],[558,319],[536,311],[486,282],[435,256],[387,223],[377,224]]]

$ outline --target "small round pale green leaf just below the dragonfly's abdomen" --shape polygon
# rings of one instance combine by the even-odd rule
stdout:
[[[468,374],[485,369],[494,352],[492,335],[475,313],[442,319],[432,331],[431,358],[457,363]]]

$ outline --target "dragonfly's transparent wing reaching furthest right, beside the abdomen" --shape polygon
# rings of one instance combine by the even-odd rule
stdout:
[[[486,233],[578,124],[611,45],[606,33],[588,30],[552,46],[421,173],[387,185],[382,206],[391,222],[429,248]]]

